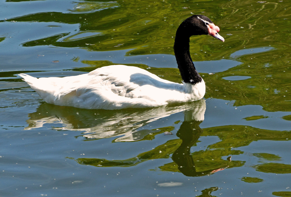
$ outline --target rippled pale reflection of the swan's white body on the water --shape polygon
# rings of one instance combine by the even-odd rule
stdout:
[[[54,126],[50,129],[79,131],[86,139],[118,136],[115,141],[137,141],[152,132],[148,129],[141,130],[142,126],[174,113],[197,108],[194,116],[203,120],[205,100],[197,103],[201,104],[193,105],[191,102],[180,106],[123,110],[88,110],[42,103],[36,112],[28,114],[28,126],[24,130],[46,127],[53,123]]]

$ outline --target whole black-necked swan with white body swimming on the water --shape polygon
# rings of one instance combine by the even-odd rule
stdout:
[[[194,35],[210,35],[224,42],[218,32],[219,27],[204,15],[192,15],[180,24],[176,31],[174,53],[182,84],[126,65],[104,66],[87,74],[69,77],[18,75],[45,102],[60,106],[113,110],[199,100],[205,94],[205,82],[191,59],[189,40]]]

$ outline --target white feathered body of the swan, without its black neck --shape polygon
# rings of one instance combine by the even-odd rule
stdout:
[[[141,68],[111,65],[71,77],[19,74],[47,103],[85,109],[157,107],[199,100],[205,83],[178,84]]]

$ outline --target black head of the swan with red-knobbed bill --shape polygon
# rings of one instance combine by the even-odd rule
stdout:
[[[193,15],[185,19],[178,27],[177,34],[180,36],[210,35],[224,42],[224,38],[220,36],[219,27],[204,15]]]

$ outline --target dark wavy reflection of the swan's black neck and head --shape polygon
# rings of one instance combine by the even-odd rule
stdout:
[[[177,132],[177,136],[182,140],[179,148],[173,153],[172,159],[178,165],[178,169],[186,176],[205,176],[211,174],[213,170],[196,172],[195,163],[190,148],[196,143],[203,130],[199,125],[202,121],[184,121]]]

